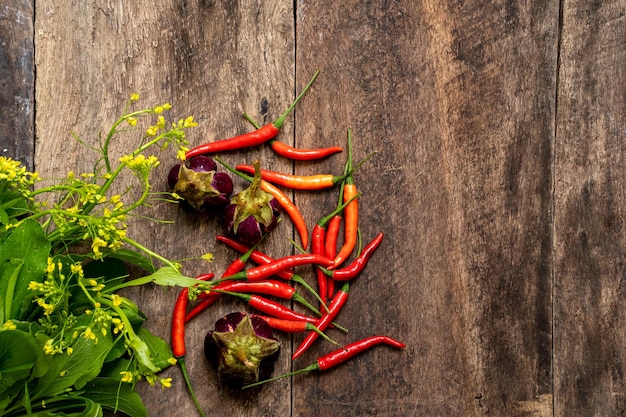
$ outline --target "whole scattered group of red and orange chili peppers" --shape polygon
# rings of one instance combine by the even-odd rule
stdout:
[[[312,161],[343,151],[343,148],[338,146],[321,149],[298,149],[276,139],[286,116],[309,89],[317,75],[318,73],[315,73],[294,103],[275,122],[259,127],[248,118],[256,126],[256,130],[233,138],[200,145],[188,151],[187,158],[197,155],[216,155],[221,152],[245,149],[264,143],[269,143],[277,154],[293,161]],[[383,233],[381,232],[364,247],[360,247],[359,200],[361,194],[354,181],[353,174],[358,165],[355,167],[352,162],[350,131],[348,131],[347,148],[347,162],[343,173],[338,176],[332,174],[297,176],[262,170],[262,188],[276,197],[299,234],[301,243],[298,248],[299,253],[274,259],[257,247],[249,247],[231,237],[217,236],[218,242],[228,245],[240,256],[232,261],[221,274],[220,279],[210,281],[213,274],[204,274],[198,277],[199,280],[209,281],[212,286],[209,291],[199,293],[192,306],[189,306],[190,291],[188,289],[183,289],[178,296],[172,317],[172,348],[197,406],[198,402],[193,390],[191,390],[184,365],[186,352],[185,323],[206,310],[220,297],[232,296],[246,301],[260,317],[277,331],[305,332],[306,336],[294,351],[292,359],[302,355],[320,337],[332,341],[324,333],[327,330],[333,328],[346,330],[335,320],[348,300],[350,283],[365,269],[383,241]],[[215,159],[221,162],[219,158]],[[254,173],[254,167],[250,165],[239,165],[235,168],[227,166],[227,168],[244,177],[245,173]],[[340,198],[337,207],[326,217],[320,219],[313,230],[309,232],[298,207],[282,189],[297,191],[339,189]],[[342,228],[343,236],[341,236]],[[254,265],[248,266],[248,262],[252,262]],[[310,265],[314,268],[317,278],[316,289],[296,273],[296,269],[304,265]],[[298,293],[294,283],[300,284],[310,296],[314,296],[318,300],[319,308],[314,307],[303,295]],[[285,306],[284,301],[292,300],[302,305],[308,310],[308,313],[299,313]],[[403,343],[390,337],[374,335],[342,346],[330,354],[320,357],[309,367],[288,375],[313,370],[328,370],[378,344],[387,344],[396,348],[405,347]],[[268,381],[259,383],[264,382]]]

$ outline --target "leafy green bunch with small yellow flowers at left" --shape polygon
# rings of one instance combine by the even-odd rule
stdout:
[[[149,180],[159,160],[146,150],[172,145],[183,158],[185,132],[197,123],[188,117],[168,125],[162,114],[169,104],[130,111],[138,99],[131,96],[99,148],[90,148],[100,155],[93,172],[69,172],[38,188],[36,172],[0,157],[2,417],[100,416],[104,408],[145,416],[135,384],[170,386],[170,378],[158,375],[176,363],[169,345],[143,327],[137,304],[118,292],[148,283],[197,284],[179,263],[127,235],[133,212],[159,198]],[[112,161],[112,139],[141,130],[142,118],[156,123],[143,130],[137,149]],[[138,197],[130,189],[112,194],[126,172],[140,184]],[[128,264],[148,275],[128,279]]]

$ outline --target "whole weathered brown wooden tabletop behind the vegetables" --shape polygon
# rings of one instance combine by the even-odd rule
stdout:
[[[35,10],[35,166],[44,176],[88,169],[93,160],[69,131],[97,143],[132,92],[193,114],[199,143],[249,130],[241,111],[275,119],[317,69],[281,139],[317,147],[344,142],[351,128],[356,159],[377,152],[356,181],[363,238],[384,231],[385,242],[340,316],[350,333],[333,336],[385,333],[407,349],[235,396],[217,386],[200,348],[212,322],[240,308],[221,303],[188,333],[187,363],[211,415],[626,413],[626,1],[65,3]],[[15,23],[0,22],[13,39],[5,28]],[[15,42],[3,42],[5,56]],[[0,111],[6,121],[12,110]],[[4,132],[30,117],[0,130],[3,148]],[[32,146],[32,133],[21,134]],[[27,160],[29,149],[16,156]],[[266,147],[225,159],[256,156],[297,173],[339,173],[345,161],[291,164]],[[295,199],[312,227],[336,195]],[[232,259],[213,241],[215,220],[154,210],[177,224],[134,225],[157,252],[210,251],[216,271]],[[291,250],[284,235],[295,236],[288,221],[280,227],[264,242],[277,255]],[[175,293],[135,295],[149,327],[167,336]],[[276,373],[292,366],[283,340]],[[142,388],[150,415],[194,415],[170,374],[172,390]]]

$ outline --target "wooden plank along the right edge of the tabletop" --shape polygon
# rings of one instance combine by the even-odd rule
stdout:
[[[555,416],[626,413],[626,2],[566,2],[555,194]]]

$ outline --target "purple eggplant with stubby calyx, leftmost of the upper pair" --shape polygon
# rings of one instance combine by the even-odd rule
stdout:
[[[224,208],[233,192],[233,181],[206,156],[195,156],[176,164],[167,176],[168,185],[194,211]]]

